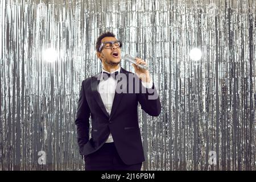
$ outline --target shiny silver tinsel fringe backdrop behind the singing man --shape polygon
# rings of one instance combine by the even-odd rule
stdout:
[[[159,89],[159,117],[139,110],[144,170],[255,170],[255,6],[1,0],[0,170],[84,169],[76,107],[82,80],[101,70],[94,46],[106,30],[122,55],[148,61]],[[200,61],[189,58],[194,47]]]

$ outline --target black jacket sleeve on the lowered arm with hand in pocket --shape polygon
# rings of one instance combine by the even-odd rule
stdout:
[[[77,105],[76,113],[76,133],[77,133],[77,143],[79,144],[80,154],[84,144],[89,140],[89,118],[90,109],[85,97],[85,80],[82,81],[82,86],[79,94],[79,101]]]

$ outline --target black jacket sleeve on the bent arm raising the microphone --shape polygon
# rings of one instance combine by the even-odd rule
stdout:
[[[139,80],[139,88],[137,98],[141,108],[151,116],[158,116],[161,112],[161,103],[154,83],[152,88],[144,88],[142,81]]]

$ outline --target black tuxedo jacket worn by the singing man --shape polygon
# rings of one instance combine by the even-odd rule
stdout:
[[[138,123],[138,102],[141,104],[142,109],[152,116],[160,114],[161,104],[154,84],[151,89],[143,87],[146,93],[141,93],[141,80],[134,73],[128,72],[123,68],[121,68],[120,73],[127,75],[126,84],[123,85],[127,92],[115,92],[110,115],[106,111],[100,93],[97,90],[100,82],[98,79],[100,73],[82,81],[75,121],[77,142],[80,154],[86,156],[97,151],[106,142],[109,133],[111,133],[115,147],[123,162],[137,164],[144,161],[141,131]],[[128,82],[128,74],[134,75],[133,82]],[[139,93],[134,91],[136,83],[139,85]],[[131,89],[133,93],[128,93],[131,86],[133,86]],[[156,94],[156,99],[154,100],[148,99],[148,96],[154,95],[152,92]],[[92,118],[92,138],[89,139],[90,116]]]

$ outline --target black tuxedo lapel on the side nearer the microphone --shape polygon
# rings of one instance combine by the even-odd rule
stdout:
[[[121,68],[120,73],[126,74],[126,78],[125,78],[125,79],[127,79],[126,80],[126,84],[123,85],[124,87],[122,88],[123,90],[125,90],[126,87],[127,87],[127,84],[128,84],[128,74],[125,71],[125,69],[123,69],[123,68]],[[122,81],[122,80],[119,79],[117,81],[117,86],[118,86],[118,83],[120,83],[120,81]],[[113,117],[115,111],[117,110],[117,108],[118,108],[118,106],[120,104],[120,101],[122,100],[123,94],[124,93],[117,93],[117,89],[115,89],[115,96],[114,96],[113,105],[112,105],[112,109],[111,109],[111,113],[110,113],[110,118],[109,119],[111,119]]]

